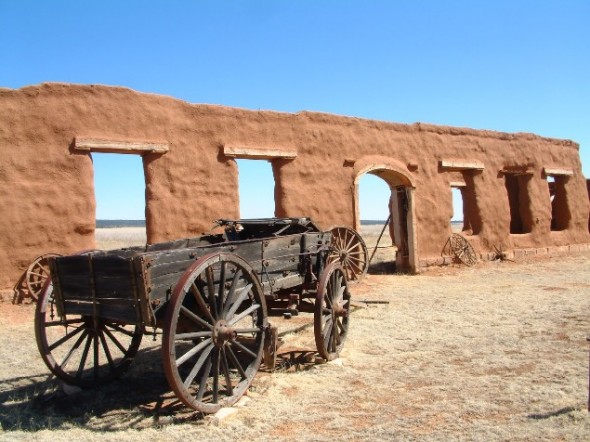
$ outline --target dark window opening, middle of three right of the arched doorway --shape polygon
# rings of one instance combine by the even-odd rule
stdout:
[[[505,185],[510,206],[510,233],[530,233],[532,230],[531,201],[528,192],[530,174],[505,173]]]

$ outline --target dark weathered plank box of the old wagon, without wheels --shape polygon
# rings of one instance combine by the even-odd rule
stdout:
[[[181,276],[211,253],[228,252],[243,258],[269,299],[297,290],[307,280],[309,259],[314,266],[320,265],[318,260],[325,256],[320,252],[328,249],[331,240],[330,232],[309,230],[297,219],[281,219],[277,224],[255,220],[236,231],[238,237],[249,239],[226,241],[223,235],[204,235],[57,258],[52,263],[53,279],[67,314],[156,325],[156,311],[165,308]],[[214,269],[215,291],[220,277],[219,269]]]

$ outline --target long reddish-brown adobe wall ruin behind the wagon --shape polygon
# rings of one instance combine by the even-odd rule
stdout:
[[[590,243],[578,145],[532,134],[42,84],[0,89],[0,149],[0,288],[41,253],[95,247],[93,151],[143,155],[150,243],[238,217],[240,157],[271,161],[277,216],[310,216],[321,228],[358,226],[358,180],[381,176],[409,207],[402,227],[415,270],[441,262],[452,186],[462,189],[468,239],[484,258]]]

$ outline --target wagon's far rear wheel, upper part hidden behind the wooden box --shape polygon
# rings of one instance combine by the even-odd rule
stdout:
[[[49,370],[67,384],[88,388],[119,377],[141,343],[139,325],[58,312],[47,280],[35,311],[37,347]]]

